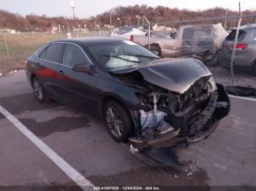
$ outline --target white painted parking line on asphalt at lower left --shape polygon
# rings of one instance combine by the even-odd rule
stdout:
[[[0,106],[1,114],[12,122],[18,130],[21,131],[30,141],[32,141],[45,155],[47,155],[53,163],[61,168],[70,179],[72,179],[78,186],[83,190],[87,190],[89,186],[93,186],[88,179],[84,178],[75,168],[72,168],[63,158],[57,155],[53,149],[50,149],[43,141],[41,141],[37,136],[34,135],[28,128],[26,128],[17,118],[15,118],[10,112],[8,112],[4,107]],[[86,188],[87,187],[87,188]]]

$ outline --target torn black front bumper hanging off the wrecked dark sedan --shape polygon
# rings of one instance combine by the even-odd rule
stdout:
[[[225,88],[217,84],[217,89],[217,93],[211,95],[206,108],[195,125],[193,124],[193,129],[199,129],[199,132],[193,136],[184,136],[181,128],[178,128],[147,141],[131,138],[130,151],[150,165],[181,165],[178,157],[174,155],[173,148],[206,139],[217,128],[219,120],[230,112],[230,101]]]

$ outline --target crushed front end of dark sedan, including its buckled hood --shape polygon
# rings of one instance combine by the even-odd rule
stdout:
[[[225,88],[195,59],[163,60],[111,74],[143,90],[135,92],[140,104],[132,109],[135,136],[129,141],[130,150],[146,163],[165,163],[163,157],[156,159],[159,149],[206,139],[230,111]]]

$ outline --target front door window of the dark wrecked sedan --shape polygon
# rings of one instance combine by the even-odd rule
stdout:
[[[80,48],[74,44],[66,44],[63,55],[63,64],[65,66],[74,66],[76,64],[84,63],[89,64],[86,55],[80,50]]]

